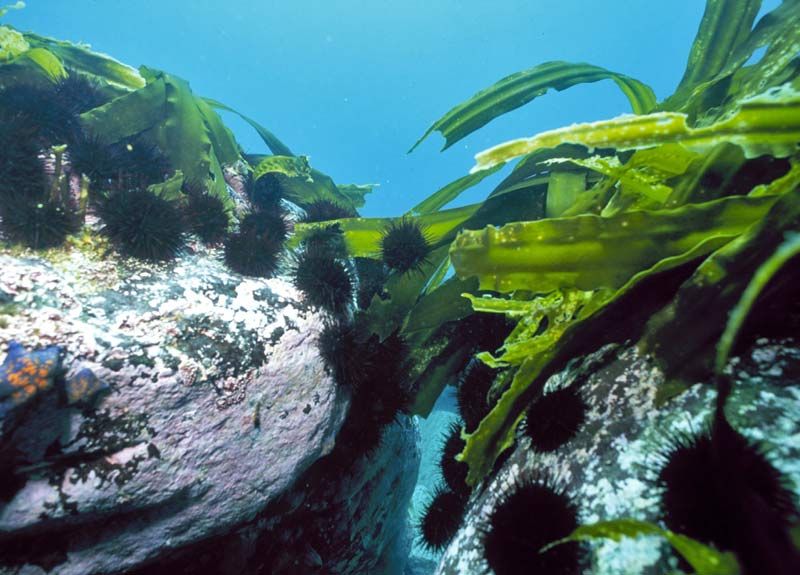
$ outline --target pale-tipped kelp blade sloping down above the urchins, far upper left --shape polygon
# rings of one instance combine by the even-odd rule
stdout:
[[[25,40],[31,48],[44,48],[58,57],[66,68],[91,74],[94,78],[116,89],[127,92],[144,88],[145,80],[131,66],[100,52],[84,46],[25,33]]]

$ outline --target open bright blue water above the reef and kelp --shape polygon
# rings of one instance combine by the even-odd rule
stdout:
[[[699,0],[31,0],[7,21],[89,43],[191,82],[275,132],[338,183],[378,183],[362,213],[402,213],[506,139],[628,112],[611,82],[551,93],[444,153],[441,114],[503,76],[547,60],[638,78],[659,98],[680,80]],[[779,0],[764,2],[770,10]],[[265,151],[238,118],[250,152]],[[459,201],[485,197],[493,180]]]

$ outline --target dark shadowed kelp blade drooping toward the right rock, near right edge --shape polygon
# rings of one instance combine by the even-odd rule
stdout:
[[[793,188],[756,225],[706,258],[674,300],[649,320],[641,345],[671,378],[670,389],[660,391],[659,400],[710,373],[731,310],[750,279],[778,250],[785,234],[798,231],[800,188]]]

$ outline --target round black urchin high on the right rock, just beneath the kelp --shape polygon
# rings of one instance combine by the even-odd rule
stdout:
[[[528,408],[525,433],[538,451],[558,449],[586,419],[586,403],[574,385],[543,395]]]

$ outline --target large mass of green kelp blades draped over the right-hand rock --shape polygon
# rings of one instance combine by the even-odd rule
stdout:
[[[603,78],[618,83],[634,110],[480,152],[470,176],[412,209],[420,218],[441,214],[463,189],[518,160],[452,228],[455,237],[437,238],[450,245],[439,265],[452,263],[457,277],[477,278],[478,290],[496,292],[487,298],[465,290],[473,308],[517,322],[496,353],[478,354],[513,376],[498,383],[499,400],[466,435],[459,458],[470,467],[470,484],[512,445],[544,380],[570,355],[642,337],[669,376],[662,400],[698,375],[721,370],[755,298],[793,258],[793,243],[779,246],[800,228],[794,216],[800,92],[792,47],[800,4],[784,2],[756,22],[759,8],[755,1],[708,0],[684,77],[661,103],[637,80],[550,62],[479,92],[421,138],[439,131],[446,148],[547,89]],[[745,66],[758,48],[765,48],[762,58]],[[538,211],[520,218],[522,206],[534,204]],[[343,229],[354,248],[367,251],[363,232]],[[442,272],[429,277],[433,287],[406,306],[409,315],[444,293],[437,283]],[[418,386],[424,405],[435,389]]]

